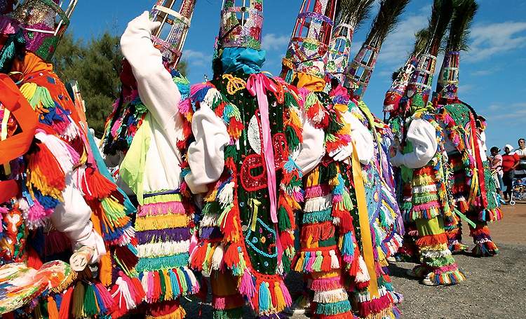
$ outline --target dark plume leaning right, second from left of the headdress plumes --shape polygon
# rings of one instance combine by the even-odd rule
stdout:
[[[386,36],[395,29],[400,15],[410,0],[380,0],[380,8],[365,43],[369,46],[380,47]]]

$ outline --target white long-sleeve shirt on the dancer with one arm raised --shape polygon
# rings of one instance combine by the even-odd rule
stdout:
[[[144,192],[178,189],[181,182],[182,159],[176,147],[177,140],[182,138],[182,118],[178,111],[181,95],[163,66],[161,52],[151,42],[151,29],[155,26],[144,12],[128,23],[121,36],[122,53],[132,67],[139,96],[151,114],[142,179]],[[128,152],[126,156],[137,154]]]

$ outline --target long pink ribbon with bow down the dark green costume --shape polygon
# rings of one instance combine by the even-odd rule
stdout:
[[[276,196],[276,167],[274,166],[274,147],[269,123],[269,100],[267,90],[276,92],[278,86],[262,73],[251,74],[247,81],[247,90],[252,96],[257,96],[257,105],[261,115],[263,131],[263,149],[265,155],[265,166],[267,168],[267,185],[269,189],[270,217],[274,224],[278,223],[277,196]]]

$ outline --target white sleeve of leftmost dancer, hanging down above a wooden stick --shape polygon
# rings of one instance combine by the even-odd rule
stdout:
[[[73,185],[71,174],[66,175],[66,188],[62,191],[64,202],[60,203],[53,215],[51,223],[55,229],[66,233],[74,249],[88,246],[95,249],[91,262],[97,262],[106,253],[104,240],[95,232],[91,222],[91,208],[86,204],[81,192]]]

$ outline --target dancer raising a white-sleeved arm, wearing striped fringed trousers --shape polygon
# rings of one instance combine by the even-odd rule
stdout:
[[[183,156],[177,149],[177,141],[184,140],[178,105],[189,93],[189,82],[173,68],[195,1],[182,1],[179,13],[172,10],[174,4],[159,1],[152,10],[154,22],[144,12],[128,23],[121,37],[126,58],[121,98],[107,120],[102,146],[107,156],[119,158],[118,183],[137,198],[136,270],[147,318],[184,318],[180,297],[199,290],[188,268],[194,206],[181,195]],[[161,39],[165,22],[170,32]]]

